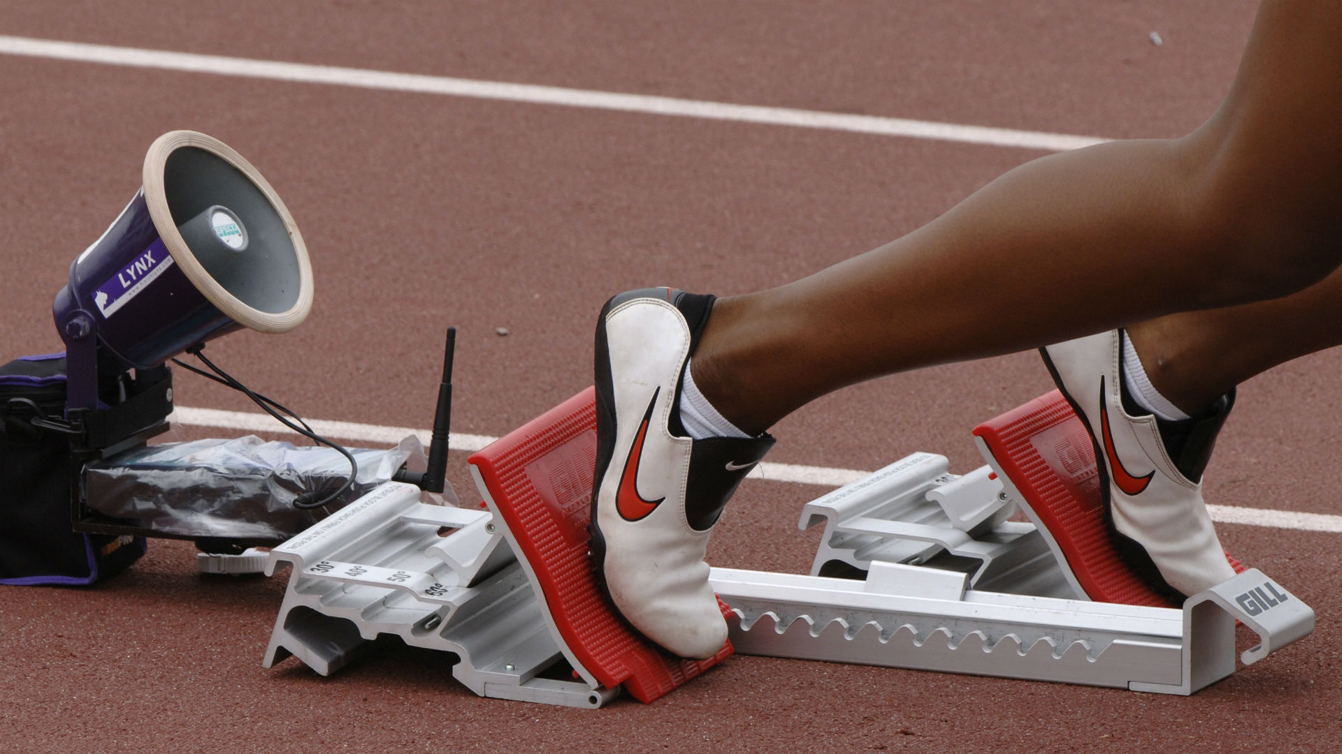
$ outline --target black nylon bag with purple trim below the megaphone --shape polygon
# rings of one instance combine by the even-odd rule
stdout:
[[[64,372],[64,354],[0,366],[0,584],[85,586],[145,554],[142,537],[71,530],[70,441],[31,424],[63,416]]]

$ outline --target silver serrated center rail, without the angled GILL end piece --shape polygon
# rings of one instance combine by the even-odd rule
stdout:
[[[1178,684],[1181,610],[929,588],[921,566],[867,581],[713,569],[738,653],[1127,688]],[[947,572],[949,574],[949,572]],[[913,593],[899,593],[907,589]]]

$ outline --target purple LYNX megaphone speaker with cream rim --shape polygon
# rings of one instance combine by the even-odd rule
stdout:
[[[145,154],[142,188],[52,305],[66,408],[110,402],[99,372],[149,369],[239,327],[286,333],[311,306],[307,248],[266,178],[216,138],[166,133]]]

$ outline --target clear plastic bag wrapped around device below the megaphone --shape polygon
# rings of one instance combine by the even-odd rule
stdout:
[[[391,480],[401,464],[423,470],[424,447],[408,436],[391,449],[349,448],[358,476],[323,508],[299,510],[294,498],[327,495],[349,478],[349,460],[325,447],[234,440],[165,443],[85,468],[89,507],[134,519],[154,531],[189,537],[287,539]],[[451,490],[444,491],[455,500]]]

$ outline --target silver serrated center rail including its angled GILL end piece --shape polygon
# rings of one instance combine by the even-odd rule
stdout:
[[[1307,636],[1314,612],[1248,569],[1182,609],[929,586],[919,566],[874,562],[866,581],[713,569],[738,653],[1108,686],[1188,695]],[[957,596],[958,592],[958,596]]]

